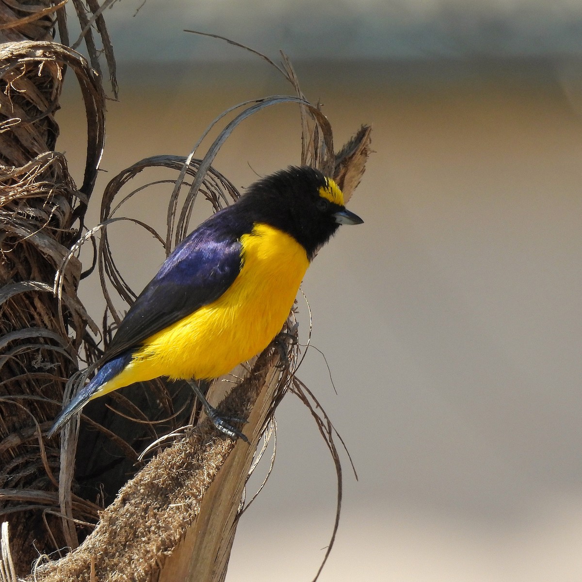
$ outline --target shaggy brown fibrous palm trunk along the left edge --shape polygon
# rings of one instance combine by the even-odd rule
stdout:
[[[77,299],[79,261],[63,274],[62,304],[55,272],[79,237],[97,175],[104,135],[101,82],[85,59],[52,39],[50,2],[0,2],[0,508],[8,519],[16,571],[30,572],[35,549],[54,549],[66,536],[54,514],[60,452],[45,430],[60,407],[66,379],[77,370],[87,315]],[[39,40],[22,40],[22,38]],[[76,74],[88,127],[84,182],[77,190],[59,134],[63,72]],[[53,443],[54,445],[54,443]],[[95,516],[75,499],[76,512]]]

